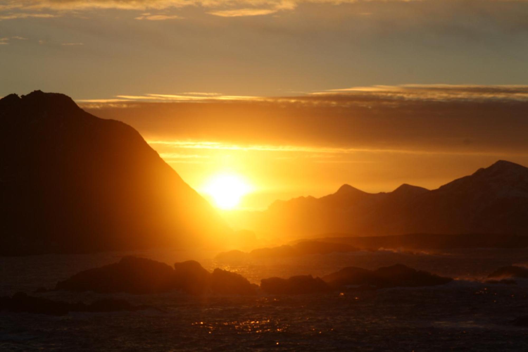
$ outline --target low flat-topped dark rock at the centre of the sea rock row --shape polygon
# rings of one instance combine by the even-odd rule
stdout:
[[[320,293],[332,290],[326,282],[312,275],[291,276],[289,279],[270,277],[260,281],[260,288],[272,294]]]

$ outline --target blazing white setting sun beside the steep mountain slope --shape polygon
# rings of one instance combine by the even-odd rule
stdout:
[[[209,179],[203,191],[211,196],[220,209],[233,209],[252,187],[237,174],[216,174]]]

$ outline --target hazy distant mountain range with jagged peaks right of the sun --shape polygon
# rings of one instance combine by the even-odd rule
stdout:
[[[290,237],[429,234],[528,235],[528,168],[497,161],[435,190],[402,184],[367,193],[348,184],[321,198],[276,201],[243,226]]]

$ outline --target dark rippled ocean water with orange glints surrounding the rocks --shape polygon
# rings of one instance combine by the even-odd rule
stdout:
[[[333,253],[243,263],[219,263],[215,253],[168,250],[0,258],[0,295],[18,291],[90,302],[93,292],[32,293],[87,268],[133,254],[172,264],[195,259],[209,270],[238,272],[251,282],[270,276],[325,275],[345,266],[402,263],[455,277],[447,285],[327,294],[191,297],[182,293],[112,294],[152,309],[62,317],[0,313],[6,351],[526,351],[528,283],[486,284],[499,266],[528,263],[524,249],[448,253]]]

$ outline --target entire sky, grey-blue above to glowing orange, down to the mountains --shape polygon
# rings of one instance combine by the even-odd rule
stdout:
[[[62,92],[241,208],[528,165],[528,1],[0,0],[0,96]]]

